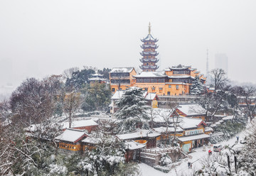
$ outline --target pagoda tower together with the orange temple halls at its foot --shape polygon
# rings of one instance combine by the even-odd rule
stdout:
[[[196,68],[191,66],[177,65],[168,67],[162,71],[156,71],[159,61],[156,56],[156,42],[158,40],[151,35],[151,26],[149,23],[149,34],[142,39],[143,49],[142,65],[139,67],[142,72],[137,74],[133,67],[113,68],[110,72],[110,87],[112,93],[117,90],[125,90],[128,87],[141,87],[149,93],[156,93],[161,96],[181,96],[190,94],[190,88],[193,80],[198,77],[203,84],[206,84],[206,77],[200,74]]]

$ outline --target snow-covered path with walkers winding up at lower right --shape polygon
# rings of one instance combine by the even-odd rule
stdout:
[[[245,137],[245,132],[239,133],[237,136],[239,136],[239,139],[242,139]],[[236,141],[236,136],[233,138],[230,138],[228,141],[223,141],[220,143],[220,145],[234,145]],[[216,145],[216,144],[215,144]],[[240,145],[240,143],[238,143]],[[181,162],[176,163],[176,167],[174,167],[173,170],[171,170],[169,173],[164,173],[159,170],[155,170],[153,167],[150,167],[149,165],[146,165],[144,163],[140,163],[139,167],[142,171],[142,176],[161,176],[161,175],[174,175],[174,176],[192,176],[193,172],[196,170],[200,170],[202,168],[201,165],[201,158],[208,156],[208,150],[213,151],[213,147],[208,148],[206,147],[206,151],[203,151],[203,147],[196,148],[196,152],[190,153],[190,158],[185,158],[181,160]],[[214,153],[214,152],[213,152]],[[188,161],[190,161],[192,164],[192,168],[188,169]]]

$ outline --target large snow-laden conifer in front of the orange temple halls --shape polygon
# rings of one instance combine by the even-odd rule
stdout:
[[[139,87],[130,87],[127,89],[121,99],[117,101],[119,108],[115,114],[119,123],[119,133],[129,133],[136,130],[141,125],[142,128],[149,128],[149,116],[146,110],[146,100],[143,97],[143,91]]]

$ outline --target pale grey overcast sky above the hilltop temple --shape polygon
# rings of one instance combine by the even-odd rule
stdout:
[[[206,72],[228,56],[228,76],[256,82],[256,1],[0,1],[0,86],[69,67],[139,67],[141,38],[159,39],[161,68]]]

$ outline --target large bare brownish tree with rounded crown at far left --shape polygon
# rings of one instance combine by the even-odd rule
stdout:
[[[58,75],[52,75],[43,80],[26,79],[11,94],[11,111],[15,114],[13,120],[22,122],[26,127],[31,123],[40,123],[49,119],[55,111],[55,98],[61,84]]]

